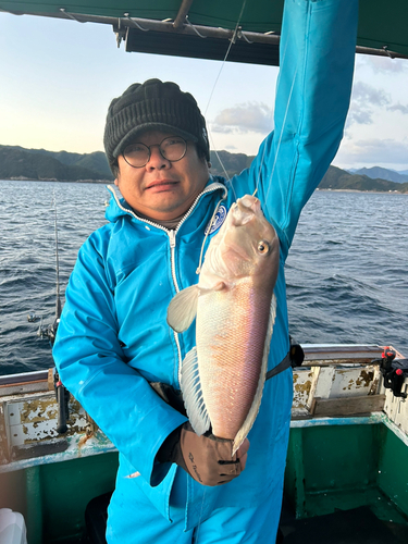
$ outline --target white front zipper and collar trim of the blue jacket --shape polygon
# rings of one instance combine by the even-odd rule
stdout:
[[[200,193],[198,195],[198,197],[196,198],[196,200],[193,202],[193,205],[191,205],[190,209],[188,210],[188,212],[184,215],[184,218],[182,219],[182,221],[178,223],[177,228],[175,231],[174,230],[169,231],[169,228],[165,228],[164,226],[161,226],[158,223],[154,223],[153,221],[150,221],[148,219],[138,218],[134,211],[128,210],[127,208],[124,208],[121,205],[121,202],[119,201],[118,196],[116,196],[113,187],[111,187],[111,186],[108,185],[107,188],[112,194],[113,198],[115,199],[115,202],[116,202],[118,207],[121,210],[129,213],[131,215],[133,215],[135,219],[138,219],[139,221],[144,221],[145,223],[148,223],[149,225],[156,226],[157,228],[160,228],[161,231],[164,231],[168,234],[168,236],[169,236],[169,243],[170,243],[170,265],[171,265],[171,271],[172,271],[173,284],[174,284],[174,288],[175,288],[176,293],[180,293],[180,287],[178,287],[177,277],[176,277],[176,273],[175,273],[175,246],[176,246],[175,236],[176,236],[177,232],[180,231],[180,227],[182,226],[182,224],[191,215],[194,209],[197,206],[198,200],[203,195],[207,195],[208,193],[212,193],[212,191],[214,191],[214,190],[217,190],[219,188],[222,188],[222,189],[224,189],[224,197],[223,197],[223,199],[224,199],[226,197],[226,194],[227,194],[226,187],[224,185],[222,185],[221,183],[214,182],[209,187],[207,187],[207,189],[205,189],[202,193]],[[177,380],[178,380],[178,390],[180,390],[181,388],[181,379],[182,379],[182,363],[183,363],[182,348],[180,346],[178,333],[176,333],[175,331],[173,331],[173,335],[174,335],[174,341],[175,341],[175,344],[176,344],[176,347],[177,347],[177,355],[178,355]]]

